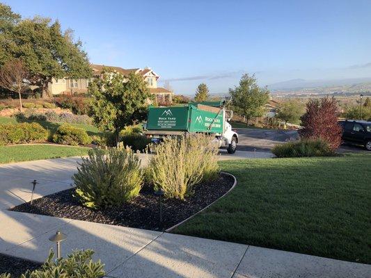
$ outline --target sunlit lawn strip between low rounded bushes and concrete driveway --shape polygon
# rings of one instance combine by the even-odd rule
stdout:
[[[88,150],[86,147],[56,145],[2,146],[0,147],[0,164],[68,156],[85,156],[88,154]]]

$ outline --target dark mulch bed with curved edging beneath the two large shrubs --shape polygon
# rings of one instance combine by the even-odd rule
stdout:
[[[220,173],[215,181],[196,186],[194,195],[187,200],[163,199],[162,223],[159,222],[159,197],[148,186],[144,186],[139,196],[131,203],[119,208],[86,208],[81,205],[79,199],[73,197],[74,189],[71,188],[35,199],[33,204],[21,204],[11,210],[161,231],[173,227],[219,199],[232,187],[233,182],[232,177]]]

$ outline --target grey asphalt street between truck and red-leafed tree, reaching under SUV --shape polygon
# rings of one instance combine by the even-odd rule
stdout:
[[[295,130],[278,129],[237,129],[239,136],[237,149],[244,152],[271,152],[274,145],[290,140],[297,140],[299,134]],[[341,145],[338,153],[368,153],[362,146]]]

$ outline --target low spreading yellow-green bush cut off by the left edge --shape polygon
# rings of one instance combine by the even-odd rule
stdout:
[[[36,122],[0,124],[0,145],[45,142],[48,131]]]

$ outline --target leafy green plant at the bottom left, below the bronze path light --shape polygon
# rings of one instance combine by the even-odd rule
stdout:
[[[21,278],[99,278],[104,277],[104,264],[101,261],[93,262],[93,250],[75,250],[67,258],[54,260],[51,250],[47,261],[40,270],[27,270]],[[9,274],[2,274],[0,278],[10,278]]]

